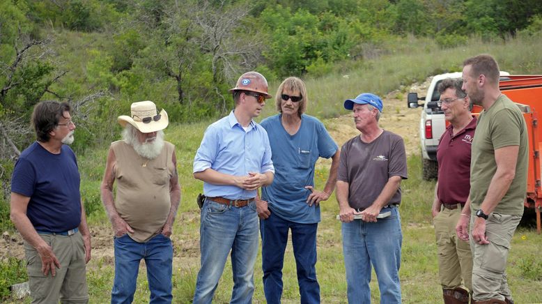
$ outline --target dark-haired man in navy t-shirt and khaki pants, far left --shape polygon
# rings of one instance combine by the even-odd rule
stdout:
[[[79,193],[70,105],[34,107],[37,142],[20,155],[11,178],[11,214],[24,238],[33,303],[88,303],[86,263],[91,234]]]

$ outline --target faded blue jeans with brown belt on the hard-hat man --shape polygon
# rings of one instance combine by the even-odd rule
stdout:
[[[258,254],[256,203],[238,208],[206,199],[199,229],[201,268],[194,304],[211,303],[231,250],[233,291],[230,303],[251,303],[254,294],[254,263]]]

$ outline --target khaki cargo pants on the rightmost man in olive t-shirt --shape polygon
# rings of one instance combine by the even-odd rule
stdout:
[[[472,229],[475,216],[470,219]],[[472,297],[474,300],[504,298],[512,300],[512,295],[506,282],[506,258],[510,250],[510,241],[521,215],[491,213],[486,220],[486,236],[489,244],[480,245],[470,238],[472,250]],[[472,232],[472,231],[471,231]]]

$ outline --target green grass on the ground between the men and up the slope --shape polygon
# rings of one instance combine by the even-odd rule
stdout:
[[[431,40],[406,37],[387,46],[387,54],[373,61],[348,63],[339,66],[332,75],[318,79],[306,79],[309,91],[308,113],[322,119],[334,117],[343,111],[345,98],[357,96],[362,91],[387,93],[403,85],[425,79],[434,73],[460,70],[464,59],[488,52],[495,55],[501,69],[510,73],[541,73],[542,47],[540,36],[519,38],[504,43],[482,43],[471,38],[467,46],[442,50]],[[343,77],[348,75],[348,77]],[[279,83],[270,84],[274,95]],[[396,109],[390,109],[396,111]],[[265,107],[262,118],[274,114],[274,101]],[[258,119],[259,120],[259,119]],[[323,120],[326,123],[326,120]],[[178,172],[182,187],[182,201],[175,226],[173,244],[175,249],[173,268],[173,296],[175,303],[189,303],[194,294],[196,275],[199,271],[199,211],[196,195],[203,183],[192,177],[192,160],[201,142],[203,132],[212,121],[171,126],[166,130],[167,140],[176,145]],[[112,123],[116,130],[120,130]],[[343,143],[338,143],[343,144]],[[103,174],[109,144],[89,149],[79,155],[82,174],[82,198],[88,212],[91,227],[109,229],[109,220],[100,202],[100,181]],[[408,159],[409,178],[403,181],[403,201],[400,207],[403,227],[403,256],[401,287],[403,303],[439,303],[442,291],[438,284],[437,255],[434,231],[431,224],[431,202],[434,183],[421,180],[421,160],[418,156]],[[326,169],[319,169],[316,184],[322,188],[327,177]],[[323,220],[318,227],[317,273],[323,303],[346,303],[346,279],[341,245],[336,200],[331,197],[322,204]],[[532,228],[520,227],[513,236],[508,261],[508,278],[516,303],[542,302],[542,236]],[[286,249],[284,261],[284,303],[299,303],[299,291],[295,277],[295,261],[291,245]],[[109,302],[114,278],[110,259],[95,257],[88,264],[88,287],[91,303]],[[256,291],[254,303],[265,303],[263,296],[261,256],[258,254],[254,271]],[[379,301],[375,276],[371,282],[371,296]],[[228,262],[217,288],[215,303],[226,303],[231,295],[231,264]],[[134,303],[147,303],[146,273],[143,267],[137,279]],[[17,301],[18,302],[18,301]],[[30,299],[25,298],[25,303]],[[12,302],[15,303],[15,302]]]

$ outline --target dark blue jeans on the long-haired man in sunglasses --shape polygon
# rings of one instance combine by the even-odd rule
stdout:
[[[271,212],[260,220],[262,238],[263,292],[269,304],[281,303],[282,266],[292,230],[292,245],[297,266],[301,303],[320,303],[320,285],[316,280],[316,230],[318,223],[300,224],[284,220]]]

